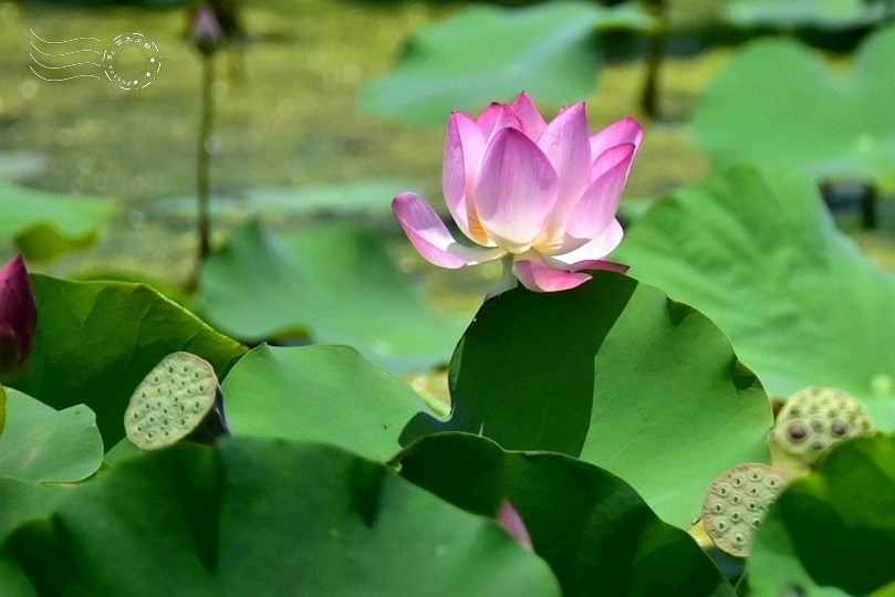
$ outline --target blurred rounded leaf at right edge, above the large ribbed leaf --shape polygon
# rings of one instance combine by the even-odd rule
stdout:
[[[893,54],[895,27],[867,38],[851,71],[839,74],[791,40],[757,40],[699,96],[694,135],[716,164],[895,185]]]

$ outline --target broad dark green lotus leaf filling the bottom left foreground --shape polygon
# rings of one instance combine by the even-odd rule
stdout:
[[[176,446],[80,488],[3,548],[44,594],[559,595],[493,521],[315,443]]]

